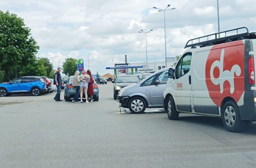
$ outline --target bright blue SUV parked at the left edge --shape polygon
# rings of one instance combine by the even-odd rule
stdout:
[[[44,82],[42,78],[22,77],[13,79],[9,83],[0,84],[0,97],[18,94],[32,94],[33,96],[39,96],[47,90],[46,82]]]

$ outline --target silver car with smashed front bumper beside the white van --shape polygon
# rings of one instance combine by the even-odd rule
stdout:
[[[169,67],[158,70],[143,81],[122,88],[117,95],[120,107],[129,108],[132,113],[144,113],[146,108],[163,108],[168,70]]]

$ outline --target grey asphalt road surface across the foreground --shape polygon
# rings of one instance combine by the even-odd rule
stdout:
[[[24,102],[0,106],[0,167],[256,167],[256,123],[230,133],[220,118],[119,113],[112,83],[98,86],[89,104],[55,93],[0,98]]]

